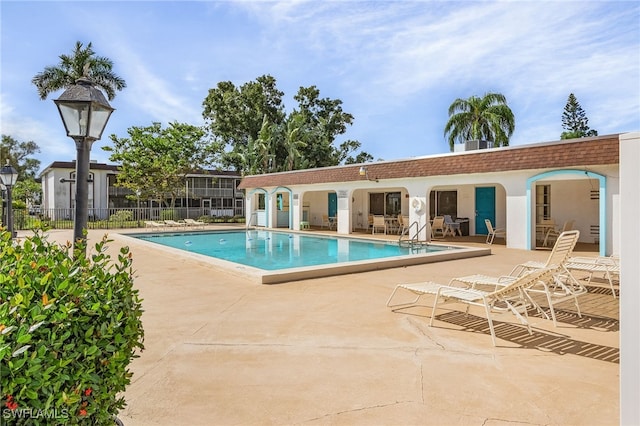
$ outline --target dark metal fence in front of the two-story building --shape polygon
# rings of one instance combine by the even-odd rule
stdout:
[[[234,209],[209,209],[202,207],[141,207],[89,209],[88,229],[144,228],[145,221],[199,219],[207,222],[242,221],[242,213]],[[15,230],[46,227],[73,229],[75,209],[14,209]],[[3,223],[6,220],[3,217]]]

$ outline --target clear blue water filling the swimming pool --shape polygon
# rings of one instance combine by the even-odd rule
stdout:
[[[438,246],[410,249],[400,247],[397,242],[264,230],[152,234],[136,238],[269,271],[451,249]]]

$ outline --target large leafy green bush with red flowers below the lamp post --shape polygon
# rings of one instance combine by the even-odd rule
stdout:
[[[0,423],[113,424],[144,349],[132,256],[71,256],[41,231],[0,229]],[[18,420],[19,417],[22,419]]]

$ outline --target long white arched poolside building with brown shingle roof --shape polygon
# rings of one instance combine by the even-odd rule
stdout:
[[[539,225],[573,221],[600,253],[620,247],[620,135],[454,152],[418,158],[245,177],[247,221],[300,229],[335,217],[338,234],[368,228],[369,214],[408,215],[414,229],[435,215],[470,235],[484,220],[506,228],[507,246],[533,249]]]

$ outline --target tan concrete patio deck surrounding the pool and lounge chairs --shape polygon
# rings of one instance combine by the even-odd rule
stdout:
[[[66,241],[72,231],[50,235]],[[498,347],[483,310],[444,305],[429,327],[428,296],[398,312],[385,306],[398,283],[506,274],[548,251],[494,244],[485,257],[256,285],[109,236],[114,249],[132,249],[145,309],[126,426],[619,424],[619,299],[607,286],[581,296],[582,318],[570,302],[557,328],[532,316],[532,336],[513,316],[494,316]],[[577,254],[597,255],[587,250]]]

